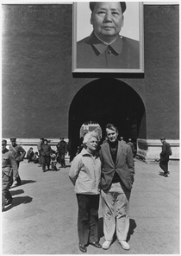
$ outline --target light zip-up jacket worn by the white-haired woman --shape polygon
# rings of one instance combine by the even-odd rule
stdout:
[[[100,193],[101,161],[83,149],[74,157],[69,177],[75,186],[75,193],[97,195]]]

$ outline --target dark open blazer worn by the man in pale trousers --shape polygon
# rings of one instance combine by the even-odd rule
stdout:
[[[118,141],[116,162],[113,162],[109,150],[109,143],[103,143],[100,149],[102,161],[101,188],[106,191],[110,188],[115,171],[127,189],[132,189],[134,182],[134,158],[131,147]]]

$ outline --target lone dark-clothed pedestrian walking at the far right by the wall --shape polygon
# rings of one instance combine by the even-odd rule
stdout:
[[[172,148],[171,145],[165,141],[165,137],[161,137],[160,141],[162,143],[162,150],[159,154],[159,167],[164,171],[164,176],[168,177],[168,175],[170,174],[170,172],[168,171],[168,162],[169,157],[172,156]]]

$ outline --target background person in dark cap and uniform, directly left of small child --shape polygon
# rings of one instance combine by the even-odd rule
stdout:
[[[46,165],[47,165],[47,170],[50,170],[51,153],[52,153],[52,148],[48,144],[47,139],[44,139],[43,144],[41,145],[41,163],[42,163],[43,172],[46,171]]]

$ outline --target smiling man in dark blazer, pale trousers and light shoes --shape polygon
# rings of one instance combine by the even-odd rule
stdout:
[[[134,182],[134,158],[131,147],[118,140],[115,125],[107,125],[108,142],[101,145],[102,161],[101,195],[103,206],[103,249],[109,249],[115,234],[125,250],[127,243],[129,218],[129,197]],[[116,222],[115,212],[116,209]],[[116,227],[115,227],[116,225]]]

